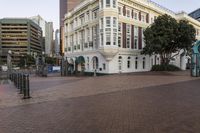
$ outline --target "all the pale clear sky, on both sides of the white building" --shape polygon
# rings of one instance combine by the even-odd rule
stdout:
[[[174,11],[190,13],[200,8],[200,0],[153,0]],[[59,0],[0,0],[0,18],[42,16],[59,27]]]

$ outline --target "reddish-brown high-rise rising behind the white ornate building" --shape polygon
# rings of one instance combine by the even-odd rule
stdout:
[[[65,14],[72,10],[75,6],[77,6],[83,0],[60,0],[60,54],[63,55],[64,53],[64,18]]]

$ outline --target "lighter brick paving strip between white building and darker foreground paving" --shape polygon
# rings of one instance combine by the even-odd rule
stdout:
[[[55,101],[90,95],[105,94],[124,90],[134,90],[150,86],[167,85],[197,80],[185,74],[143,74],[108,75],[100,77],[30,77],[31,99],[22,100],[13,84],[1,85],[0,108],[25,104]]]

